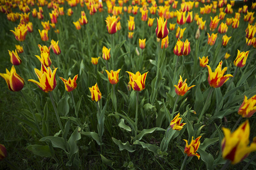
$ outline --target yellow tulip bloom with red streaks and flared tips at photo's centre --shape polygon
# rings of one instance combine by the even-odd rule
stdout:
[[[139,73],[139,71],[137,71],[136,74],[133,74],[129,71],[126,71],[126,73],[130,75],[129,84],[133,88],[133,90],[142,91],[145,88],[145,81],[146,81],[146,76],[148,72],[142,75],[141,73]]]

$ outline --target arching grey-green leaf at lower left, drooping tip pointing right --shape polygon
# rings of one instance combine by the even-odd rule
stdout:
[[[52,143],[53,147],[61,148],[62,150],[64,150],[67,153],[70,150],[70,148],[69,148],[70,146],[68,146],[68,142],[60,137],[51,137],[51,136],[43,137],[39,141],[41,141],[41,142],[50,141]]]

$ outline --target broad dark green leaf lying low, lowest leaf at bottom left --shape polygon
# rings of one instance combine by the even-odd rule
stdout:
[[[44,157],[51,157],[52,153],[48,145],[30,145],[27,150],[32,151],[33,154]]]

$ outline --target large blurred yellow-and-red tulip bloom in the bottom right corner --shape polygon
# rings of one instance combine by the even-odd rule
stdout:
[[[221,142],[222,158],[229,159],[232,164],[237,164],[245,159],[250,152],[256,151],[256,143],[249,145],[249,121],[243,122],[233,133],[227,128],[222,128],[225,137]]]

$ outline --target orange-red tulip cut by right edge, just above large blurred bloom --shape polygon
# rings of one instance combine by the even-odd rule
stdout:
[[[245,98],[243,99],[243,103],[241,104],[240,108],[238,109],[238,114],[242,117],[251,117],[256,112],[256,95],[251,97],[250,99]]]

